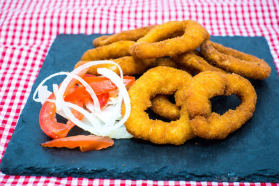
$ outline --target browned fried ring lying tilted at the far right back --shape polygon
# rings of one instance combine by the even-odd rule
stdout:
[[[265,79],[271,73],[270,66],[264,60],[210,40],[204,41],[200,50],[209,63],[228,72],[253,79]]]

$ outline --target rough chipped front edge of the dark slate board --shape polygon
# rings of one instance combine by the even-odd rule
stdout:
[[[163,171],[158,171],[157,173],[148,172],[148,171],[126,171],[121,172],[121,169],[112,169],[112,170],[81,170],[81,169],[71,169],[68,172],[61,170],[61,173],[55,173],[53,169],[37,169],[34,167],[29,167],[26,169],[17,169],[15,171],[3,169],[3,173],[13,176],[54,176],[59,178],[66,178],[68,176],[75,178],[107,178],[107,179],[128,179],[128,180],[186,180],[186,181],[211,181],[211,182],[255,182],[255,175],[246,175],[239,178],[235,176],[234,173],[224,173],[223,175],[197,175],[195,173],[189,173],[187,171],[182,171],[179,173],[165,173],[167,176],[162,177]],[[17,172],[20,172],[17,173]],[[42,171],[47,172],[47,174],[42,173]],[[138,176],[135,176],[134,171],[137,171]],[[103,176],[106,175],[106,176]],[[205,177],[206,176],[206,177]],[[259,180],[258,178],[261,177]],[[278,183],[279,173],[276,173],[274,176],[266,176],[262,174],[257,175],[257,183]]]

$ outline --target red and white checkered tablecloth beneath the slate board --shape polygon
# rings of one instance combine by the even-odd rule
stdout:
[[[47,51],[59,33],[117,33],[169,20],[196,20],[213,36],[264,36],[279,68],[277,0],[0,0],[0,157]],[[8,176],[0,185],[274,185]]]

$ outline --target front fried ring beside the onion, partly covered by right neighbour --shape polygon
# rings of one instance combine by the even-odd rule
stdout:
[[[191,76],[183,70],[159,66],[151,68],[130,87],[131,111],[125,123],[126,129],[134,137],[150,140],[156,144],[180,145],[195,137],[189,124],[186,106],[181,107],[181,116],[177,121],[165,123],[151,120],[145,112],[151,107],[151,99],[157,94],[172,94]]]

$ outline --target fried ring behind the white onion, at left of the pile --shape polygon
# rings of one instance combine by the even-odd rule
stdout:
[[[81,61],[77,62],[75,68],[83,65],[84,63],[88,63],[89,61],[112,60],[120,65],[123,70],[123,75],[136,75],[143,73],[149,65],[153,64],[153,61],[155,60],[142,60],[130,56],[128,49],[134,43],[134,41],[122,40],[114,42],[110,45],[89,49],[82,55]],[[88,73],[98,75],[98,68],[109,68],[119,74],[119,68],[113,64],[92,65],[89,68]]]

